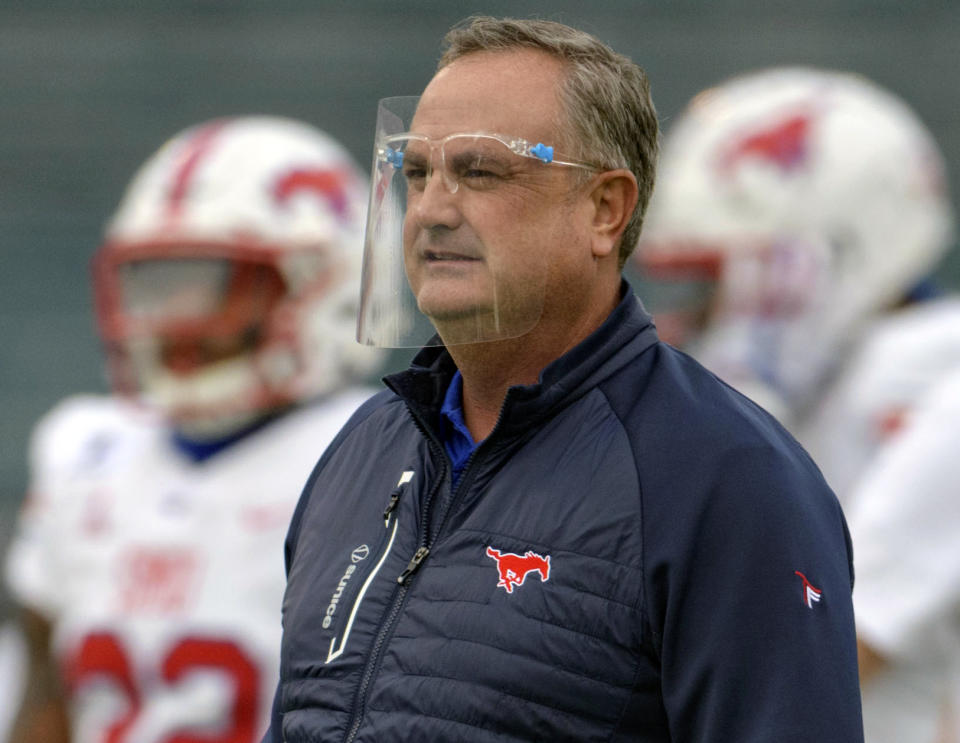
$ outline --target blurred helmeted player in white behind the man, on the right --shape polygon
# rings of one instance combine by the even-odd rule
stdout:
[[[943,158],[906,104],[853,74],[768,69],[699,94],[668,132],[638,293],[661,335],[798,436],[847,505],[870,497],[854,485],[904,413],[960,367],[960,301],[917,301],[953,230]],[[874,605],[858,590],[859,625]],[[892,662],[864,686],[872,736],[879,710],[923,714],[896,693],[915,670]],[[867,743],[932,743],[924,730]]]

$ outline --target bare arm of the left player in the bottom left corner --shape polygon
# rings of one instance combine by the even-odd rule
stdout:
[[[27,679],[10,739],[17,743],[69,743],[63,686],[51,652],[51,625],[31,609],[21,609],[27,644]]]

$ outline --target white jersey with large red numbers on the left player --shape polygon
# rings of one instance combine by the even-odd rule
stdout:
[[[370,394],[293,411],[199,463],[116,398],[70,398],[38,424],[7,581],[53,622],[74,743],[260,740],[287,526]]]

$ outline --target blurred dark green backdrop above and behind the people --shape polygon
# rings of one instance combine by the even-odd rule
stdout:
[[[591,31],[643,65],[669,128],[738,72],[861,72],[937,135],[960,183],[960,3],[948,0],[6,0],[0,4],[0,547],[26,485],[33,422],[106,389],[88,262],[134,169],[197,121],[313,122],[366,168],[377,99],[419,93],[471,13]],[[956,200],[956,196],[954,196]],[[960,286],[960,260],[939,271]]]

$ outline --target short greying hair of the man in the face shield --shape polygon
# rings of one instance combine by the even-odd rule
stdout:
[[[590,34],[554,21],[473,16],[443,39],[442,69],[475,52],[539,49],[559,58],[567,74],[560,100],[578,157],[603,168],[628,168],[640,198],[620,240],[622,268],[633,252],[653,193],[659,146],[657,112],[646,73]]]

